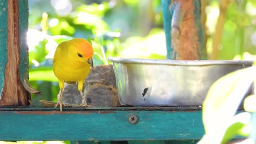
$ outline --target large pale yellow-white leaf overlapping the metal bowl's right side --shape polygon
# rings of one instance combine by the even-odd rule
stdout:
[[[211,86],[202,107],[208,142],[220,143],[223,140],[254,75],[255,67],[245,68],[222,77]]]

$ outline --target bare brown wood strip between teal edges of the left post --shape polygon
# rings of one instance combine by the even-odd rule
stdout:
[[[19,105],[18,85],[17,85],[17,66],[18,66],[18,22],[19,7],[14,0],[7,1],[7,64],[4,74],[4,88],[0,105]]]

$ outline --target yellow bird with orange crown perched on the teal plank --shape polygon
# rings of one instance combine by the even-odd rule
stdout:
[[[83,106],[88,106],[83,95],[83,84],[91,67],[94,67],[92,55],[94,49],[90,43],[82,38],[63,41],[56,49],[53,59],[53,71],[59,79],[60,97],[55,107],[60,105],[62,111],[62,91],[64,82],[68,84],[78,83],[78,91],[83,100]]]

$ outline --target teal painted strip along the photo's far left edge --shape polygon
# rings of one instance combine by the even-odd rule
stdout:
[[[7,1],[0,1],[0,99],[4,87],[4,70],[7,63]]]

